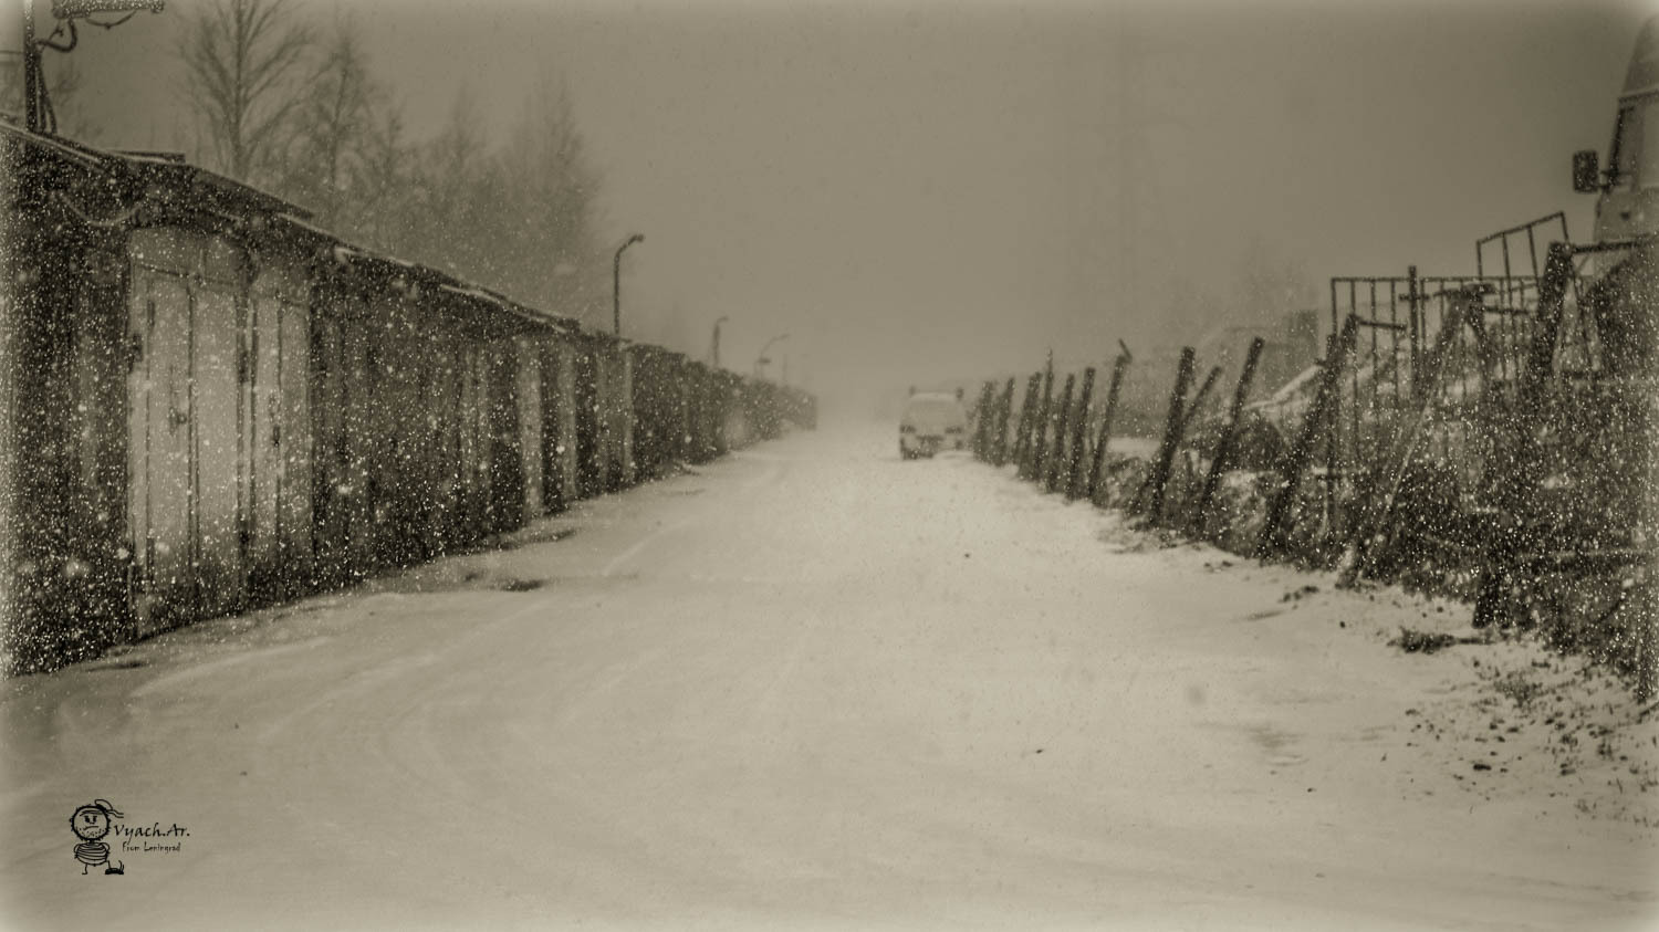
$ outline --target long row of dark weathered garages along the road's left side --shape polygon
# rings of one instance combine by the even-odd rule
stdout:
[[[0,124],[5,667],[474,546],[810,425],[156,156]]]

